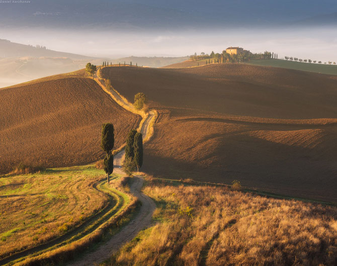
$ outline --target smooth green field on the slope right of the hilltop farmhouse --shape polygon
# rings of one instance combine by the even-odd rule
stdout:
[[[302,71],[316,72],[328,75],[337,75],[337,65],[301,63],[290,60],[269,59],[269,60],[250,60],[245,62],[250,65],[273,66]]]

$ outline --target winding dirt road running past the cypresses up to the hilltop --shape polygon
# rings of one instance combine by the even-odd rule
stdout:
[[[97,80],[97,79],[96,79]],[[99,80],[98,84],[107,91],[103,80]],[[134,107],[132,104],[126,102],[120,95],[114,90],[110,91],[111,94],[116,98],[114,99],[120,106],[125,108],[128,106],[128,111],[132,112]],[[112,98],[114,98],[112,97]],[[131,110],[130,110],[131,109]],[[137,113],[136,111],[134,113]],[[151,121],[155,118],[155,113],[150,111],[146,116],[143,116],[143,123],[140,132],[143,135],[143,139],[149,134]],[[114,173],[124,173],[122,170],[122,162],[125,156],[125,150],[121,150],[114,156]],[[141,208],[138,215],[126,226],[122,228],[120,232],[115,234],[109,241],[100,245],[98,249],[91,253],[83,255],[79,260],[69,263],[71,266],[85,266],[85,265],[95,265],[103,262],[109,258],[114,252],[116,252],[123,244],[132,240],[140,230],[151,225],[152,214],[155,209],[155,203],[146,195],[141,193],[141,188],[143,185],[143,179],[141,176],[135,176],[134,182],[131,185],[130,192],[139,199],[141,202]]]

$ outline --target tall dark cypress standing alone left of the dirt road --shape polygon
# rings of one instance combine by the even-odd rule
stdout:
[[[107,173],[108,183],[109,174],[114,170],[114,156],[111,153],[115,144],[114,136],[114,126],[111,123],[102,124],[102,139],[101,139],[101,148],[105,151],[106,155],[104,158],[104,170]]]

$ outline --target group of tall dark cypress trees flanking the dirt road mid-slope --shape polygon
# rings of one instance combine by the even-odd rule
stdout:
[[[104,157],[104,171],[107,173],[108,183],[109,175],[114,171],[114,155],[112,150],[115,144],[114,126],[112,123],[102,124],[101,148],[106,153]],[[131,129],[126,138],[125,161],[131,165],[131,168],[139,168],[143,165],[143,137],[135,129]]]

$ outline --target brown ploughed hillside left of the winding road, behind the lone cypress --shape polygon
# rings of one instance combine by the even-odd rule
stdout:
[[[102,158],[101,125],[112,122],[115,147],[140,117],[117,105],[90,78],[52,76],[0,90],[0,172],[16,164],[47,167]]]

